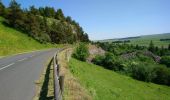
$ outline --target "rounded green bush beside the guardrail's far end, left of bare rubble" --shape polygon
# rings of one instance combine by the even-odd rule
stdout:
[[[81,61],[86,61],[88,56],[89,50],[86,44],[84,43],[80,43],[79,46],[76,48],[75,52],[73,53],[73,57]]]

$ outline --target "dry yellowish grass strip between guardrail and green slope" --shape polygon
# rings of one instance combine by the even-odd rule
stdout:
[[[66,52],[67,50],[64,50],[60,52],[58,55],[59,64],[61,66],[60,75],[64,74],[65,76],[63,99],[64,100],[92,100],[88,91],[82,85],[80,85],[79,81],[69,71]]]

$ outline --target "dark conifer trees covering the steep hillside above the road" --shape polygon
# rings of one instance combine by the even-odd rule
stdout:
[[[21,5],[11,0],[9,7],[0,1],[0,16],[5,24],[14,27],[41,43],[89,42],[88,34],[70,16],[64,16],[62,9],[53,7],[21,9]]]

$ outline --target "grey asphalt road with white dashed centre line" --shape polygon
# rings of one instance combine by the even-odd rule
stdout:
[[[35,81],[58,49],[0,58],[0,100],[32,100]]]

